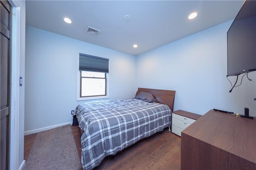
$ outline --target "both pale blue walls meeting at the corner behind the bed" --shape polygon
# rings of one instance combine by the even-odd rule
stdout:
[[[72,121],[70,111],[84,102],[76,101],[78,53],[110,59],[110,99],[134,97],[138,87],[169,89],[176,90],[174,110],[203,115],[218,108],[244,114],[248,107],[256,116],[254,72],[249,73],[253,81],[244,77],[240,87],[228,92],[226,32],[231,24],[138,56],[27,26],[25,132]]]

